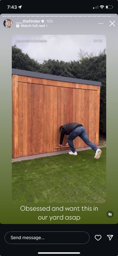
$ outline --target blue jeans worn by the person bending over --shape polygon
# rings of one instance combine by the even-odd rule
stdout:
[[[83,126],[76,127],[69,135],[67,142],[69,144],[70,150],[74,153],[76,150],[73,145],[73,140],[79,136],[80,139],[88,145],[94,152],[98,149],[92,142],[88,140],[87,134],[85,132],[85,128]]]

